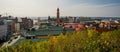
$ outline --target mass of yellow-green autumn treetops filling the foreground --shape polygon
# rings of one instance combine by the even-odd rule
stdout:
[[[84,30],[51,36],[48,40],[0,48],[0,52],[120,52],[120,30]]]

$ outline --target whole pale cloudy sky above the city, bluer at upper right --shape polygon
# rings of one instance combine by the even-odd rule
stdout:
[[[0,14],[12,16],[120,17],[120,0],[0,0]]]

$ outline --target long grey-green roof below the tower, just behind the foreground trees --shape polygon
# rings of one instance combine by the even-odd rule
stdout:
[[[63,30],[65,30],[66,32],[74,31],[74,29],[70,29],[70,28],[64,29],[63,27],[49,26],[48,29],[39,29],[36,31],[26,31],[26,33],[28,35],[48,36],[48,35],[58,35],[60,33],[63,33]]]

